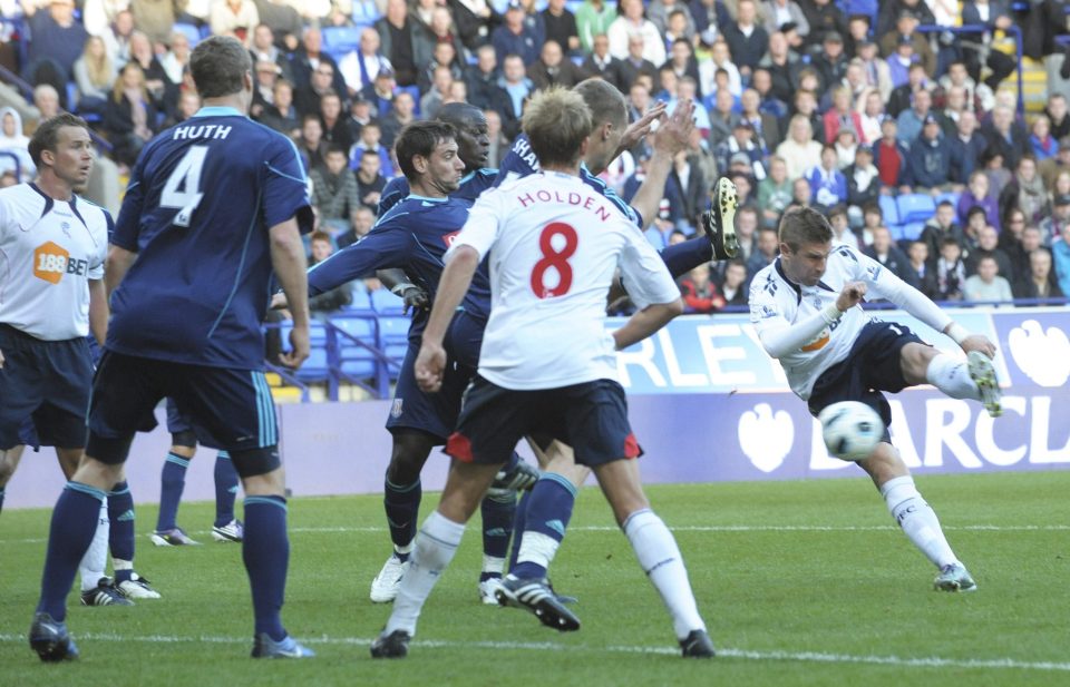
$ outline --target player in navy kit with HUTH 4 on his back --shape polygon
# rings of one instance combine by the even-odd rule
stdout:
[[[94,380],[86,457],[52,511],[41,597],[29,631],[41,660],[76,658],[66,598],[106,490],[124,475],[134,435],[174,398],[242,478],[242,558],[254,615],[254,658],[313,652],[282,625],[290,544],[278,422],[263,372],[261,323],[272,274],[290,296],[289,366],[309,355],[302,232],[308,180],[293,143],[247,117],[249,51],[214,36],[189,68],[196,115],[149,141],[135,166],[105,271],[113,316]]]

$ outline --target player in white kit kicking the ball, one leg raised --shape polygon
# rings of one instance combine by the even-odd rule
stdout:
[[[887,426],[892,413],[882,392],[928,383],[951,398],[981,401],[998,416],[1001,392],[991,361],[993,343],[952,322],[881,263],[831,242],[824,215],[806,207],[787,210],[780,219],[780,256],[755,275],[750,287],[750,320],[761,345],[780,361],[791,390],[810,412],[817,415],[833,403],[860,401]],[[924,343],[903,324],[870,317],[859,305],[867,294],[887,298],[953,338],[965,360]],[[887,431],[858,465],[907,538],[940,570],[935,588],[976,589]]]

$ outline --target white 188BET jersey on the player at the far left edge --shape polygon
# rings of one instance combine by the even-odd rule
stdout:
[[[107,210],[33,184],[0,190],[0,323],[43,341],[89,333],[89,279],[104,278]]]

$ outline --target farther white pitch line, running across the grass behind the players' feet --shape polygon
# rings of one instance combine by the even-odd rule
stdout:
[[[825,524],[684,524],[671,527],[674,532],[893,532],[892,524],[825,526]],[[960,532],[1066,532],[1070,524],[945,524],[943,529]],[[620,528],[607,524],[570,527],[570,532],[616,532]],[[387,532],[385,527],[292,527],[290,532],[311,534],[347,534]],[[191,534],[210,534],[208,530],[189,530]],[[0,539],[7,543],[45,543],[47,539]]]

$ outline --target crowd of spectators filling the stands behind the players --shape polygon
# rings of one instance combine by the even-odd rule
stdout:
[[[0,63],[35,87],[37,108],[0,90],[11,106],[0,109],[0,151],[11,154],[0,155],[0,185],[32,178],[25,115],[57,108],[93,122],[121,174],[200,107],[192,46],[231,35],[253,58],[251,116],[292,137],[310,170],[312,261],[370,230],[406,124],[470,102],[487,114],[496,166],[531,94],[597,77],[633,117],[654,100],[670,111],[698,102],[690,148],[646,232],[656,247],[700,230],[719,176],[739,189],[740,255],[680,281],[697,312],[746,304],[792,205],[819,208],[836,243],[933,298],[1060,297],[1070,291],[1070,60],[1043,111],[1027,115],[1008,80],[1016,62],[998,46],[1010,36],[1034,58],[1061,58],[1070,13],[1066,2],[1021,4],[0,0]],[[946,30],[964,24],[980,30]],[[629,198],[649,155],[641,143],[604,179]],[[901,223],[896,199],[917,196],[930,198],[928,216]]]

